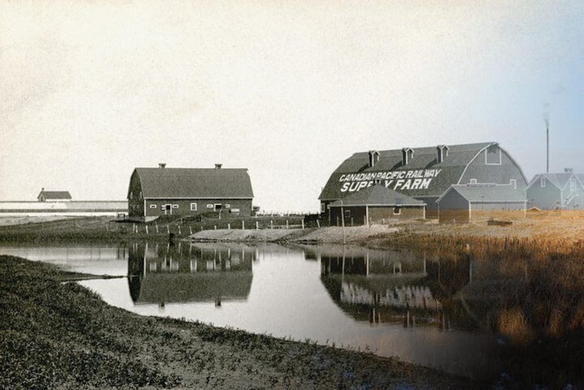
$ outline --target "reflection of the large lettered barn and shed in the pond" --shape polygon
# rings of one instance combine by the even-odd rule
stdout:
[[[451,296],[469,282],[468,259],[445,264],[411,251],[338,246],[318,252],[323,284],[358,320],[447,328],[445,309],[458,310]]]

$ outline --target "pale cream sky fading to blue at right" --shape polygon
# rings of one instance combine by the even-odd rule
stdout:
[[[584,173],[584,2],[0,0],[0,200],[125,199],[135,167],[248,168],[318,211],[365,150],[499,142]]]

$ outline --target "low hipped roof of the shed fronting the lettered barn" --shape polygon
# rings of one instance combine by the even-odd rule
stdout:
[[[382,185],[364,188],[361,191],[347,195],[340,200],[331,203],[331,207],[337,206],[425,206],[426,203],[413,197],[398,193]]]

